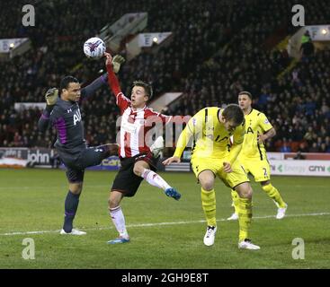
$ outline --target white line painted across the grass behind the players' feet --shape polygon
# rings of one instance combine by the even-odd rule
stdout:
[[[330,213],[302,213],[302,214],[287,214],[285,217],[301,217],[301,216],[324,216],[330,215]],[[275,215],[265,215],[265,216],[255,216],[255,219],[267,219],[274,218]],[[178,224],[191,224],[191,223],[202,223],[205,220],[201,221],[191,221],[191,222],[156,222],[156,223],[137,223],[137,224],[128,224],[127,228],[135,227],[152,227],[152,226],[163,226],[163,225],[178,225]],[[218,219],[217,222],[227,222],[226,218]],[[84,230],[111,230],[112,226],[108,227],[99,227],[99,228],[84,228]],[[59,230],[40,230],[40,231],[18,231],[18,232],[8,232],[0,233],[0,236],[13,236],[13,235],[29,235],[29,234],[44,234],[44,233],[58,233]]]

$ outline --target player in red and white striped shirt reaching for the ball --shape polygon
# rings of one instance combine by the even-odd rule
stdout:
[[[181,195],[167,184],[164,178],[156,174],[156,158],[146,144],[147,132],[153,127],[152,124],[167,124],[172,117],[168,117],[147,108],[147,100],[152,97],[152,88],[142,81],[133,83],[130,100],[121,92],[120,83],[112,70],[112,58],[108,53],[106,66],[108,82],[111,91],[116,97],[116,103],[120,108],[120,163],[121,168],[111,187],[109,197],[109,210],[112,222],[120,233],[118,239],[108,243],[129,242],[129,234],[126,230],[125,218],[121,211],[120,201],[123,196],[134,196],[141,181],[154,187],[162,188],[166,196],[179,200]],[[114,63],[119,65],[124,61],[122,57],[113,58]]]

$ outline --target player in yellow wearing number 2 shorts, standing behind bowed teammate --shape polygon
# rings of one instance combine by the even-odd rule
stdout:
[[[276,135],[275,129],[267,117],[260,111],[252,108],[252,95],[249,91],[241,91],[238,94],[238,104],[245,114],[245,138],[242,151],[238,160],[243,165],[246,173],[251,173],[256,182],[260,182],[263,191],[272,198],[277,205],[277,219],[285,216],[288,204],[281,198],[280,192],[271,184],[271,169],[267,160],[263,142]],[[227,220],[238,219],[238,195],[232,190],[235,213]]]

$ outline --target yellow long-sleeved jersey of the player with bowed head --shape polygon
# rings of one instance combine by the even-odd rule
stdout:
[[[184,129],[184,136],[179,138],[174,155],[181,157],[187,143],[184,137],[193,139],[192,159],[195,157],[225,158],[228,155],[229,137],[233,135],[234,144],[243,143],[244,123],[237,126],[233,133],[227,132],[225,126],[219,121],[224,109],[208,107],[201,109],[188,122]]]

